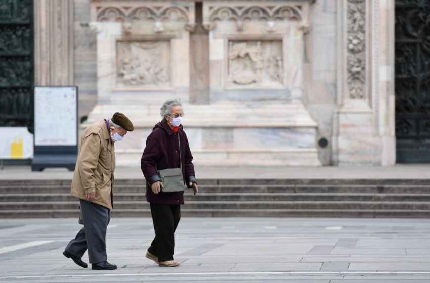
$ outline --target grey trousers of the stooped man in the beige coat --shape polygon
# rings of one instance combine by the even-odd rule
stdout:
[[[106,261],[106,230],[110,221],[110,209],[85,200],[80,200],[80,209],[83,227],[75,239],[67,244],[65,251],[81,258],[88,249],[90,263]]]

